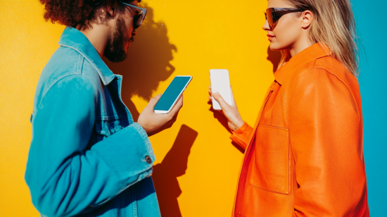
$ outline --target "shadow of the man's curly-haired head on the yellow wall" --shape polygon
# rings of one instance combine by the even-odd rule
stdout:
[[[122,101],[135,122],[139,118],[139,111],[131,98],[138,95],[146,101],[151,99],[159,83],[167,80],[175,71],[170,61],[173,59],[173,51],[177,51],[177,47],[169,42],[165,24],[153,20],[153,8],[146,4],[142,6],[147,8],[146,18],[127,50],[125,61],[112,63],[103,58],[113,73],[123,76]]]

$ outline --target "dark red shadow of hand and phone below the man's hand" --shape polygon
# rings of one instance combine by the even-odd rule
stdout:
[[[186,173],[188,156],[198,132],[182,125],[176,140],[163,161],[153,166],[153,182],[161,216],[181,217],[177,197],[182,194],[177,177]]]

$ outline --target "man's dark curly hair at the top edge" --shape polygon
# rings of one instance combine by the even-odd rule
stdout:
[[[134,0],[126,0],[131,1]],[[101,0],[40,0],[40,2],[44,4],[46,21],[51,20],[51,23],[85,30],[91,27],[91,21],[96,17],[96,4],[101,3]]]

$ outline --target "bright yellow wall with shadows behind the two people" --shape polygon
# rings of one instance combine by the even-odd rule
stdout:
[[[231,213],[243,155],[231,144],[225,119],[207,104],[208,71],[229,69],[239,111],[253,125],[278,61],[262,31],[266,4],[144,0],[140,6],[149,12],[129,59],[108,63],[124,75],[123,100],[134,118],[175,75],[194,76],[175,125],[151,137],[164,216]],[[0,14],[0,216],[39,216],[24,181],[30,113],[37,80],[64,27],[44,21],[38,0],[0,0]]]

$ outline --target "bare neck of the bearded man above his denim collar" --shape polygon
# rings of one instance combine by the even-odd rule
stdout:
[[[87,30],[80,30],[89,39],[91,44],[98,52],[99,56],[103,56],[106,44],[109,39],[109,28],[107,25],[91,25]]]

